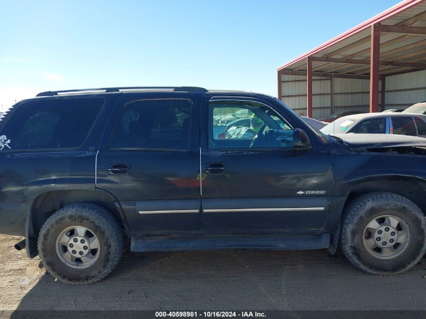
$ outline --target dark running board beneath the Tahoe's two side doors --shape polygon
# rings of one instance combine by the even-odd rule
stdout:
[[[187,251],[225,249],[302,250],[322,249],[330,244],[330,234],[315,235],[196,235],[136,236],[132,251]]]

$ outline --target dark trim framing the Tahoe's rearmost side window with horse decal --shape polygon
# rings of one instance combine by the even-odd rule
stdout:
[[[107,99],[102,97],[102,96],[96,96],[96,97],[73,97],[73,98],[69,98],[69,97],[62,97],[62,98],[49,98],[49,99],[45,99],[46,101],[54,101],[54,100],[69,100],[69,99],[73,99],[73,100],[78,100],[78,99],[98,99],[98,100],[103,100],[103,103],[99,109],[98,114],[96,115],[95,119],[93,120],[92,126],[89,129],[89,132],[87,133],[86,138],[84,139],[83,143],[79,146],[76,147],[56,147],[56,148],[32,148],[32,149],[8,149],[5,150],[3,149],[2,152],[7,152],[7,153],[11,153],[11,152],[51,152],[51,151],[55,151],[55,152],[62,152],[62,151],[73,151],[73,150],[79,150],[81,149],[84,145],[86,145],[87,140],[89,139],[90,135],[92,134],[93,131],[93,127],[95,127],[97,121],[99,120],[99,117],[101,116],[101,113],[103,111],[103,109],[105,108]],[[44,99],[43,99],[44,100]],[[12,115],[19,110],[20,107],[22,107],[23,105],[27,104],[27,103],[31,103],[31,102],[41,102],[43,101],[41,99],[31,99],[31,100],[27,100],[27,101],[22,101],[21,103],[19,103],[19,105],[15,106],[15,109],[13,110],[12,113],[8,114],[8,120],[5,121],[4,123],[2,123],[2,131],[1,134],[3,134],[3,130],[5,129],[5,126],[7,125],[7,123],[10,121],[10,119],[12,118]],[[3,114],[2,114],[3,116]]]

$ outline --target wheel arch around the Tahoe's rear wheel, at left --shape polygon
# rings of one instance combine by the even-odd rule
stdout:
[[[38,254],[37,237],[44,222],[58,209],[73,203],[92,203],[109,212],[120,223],[123,232],[128,233],[128,225],[118,201],[104,190],[53,190],[38,195],[31,206],[26,223],[27,255],[34,258]]]

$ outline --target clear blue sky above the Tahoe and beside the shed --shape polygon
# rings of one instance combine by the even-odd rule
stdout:
[[[0,0],[0,103],[48,90],[201,86],[276,96],[276,68],[395,0]]]

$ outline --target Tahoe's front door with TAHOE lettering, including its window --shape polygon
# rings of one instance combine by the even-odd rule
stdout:
[[[203,232],[321,232],[331,195],[328,152],[294,150],[295,127],[267,102],[217,97],[202,109]]]

